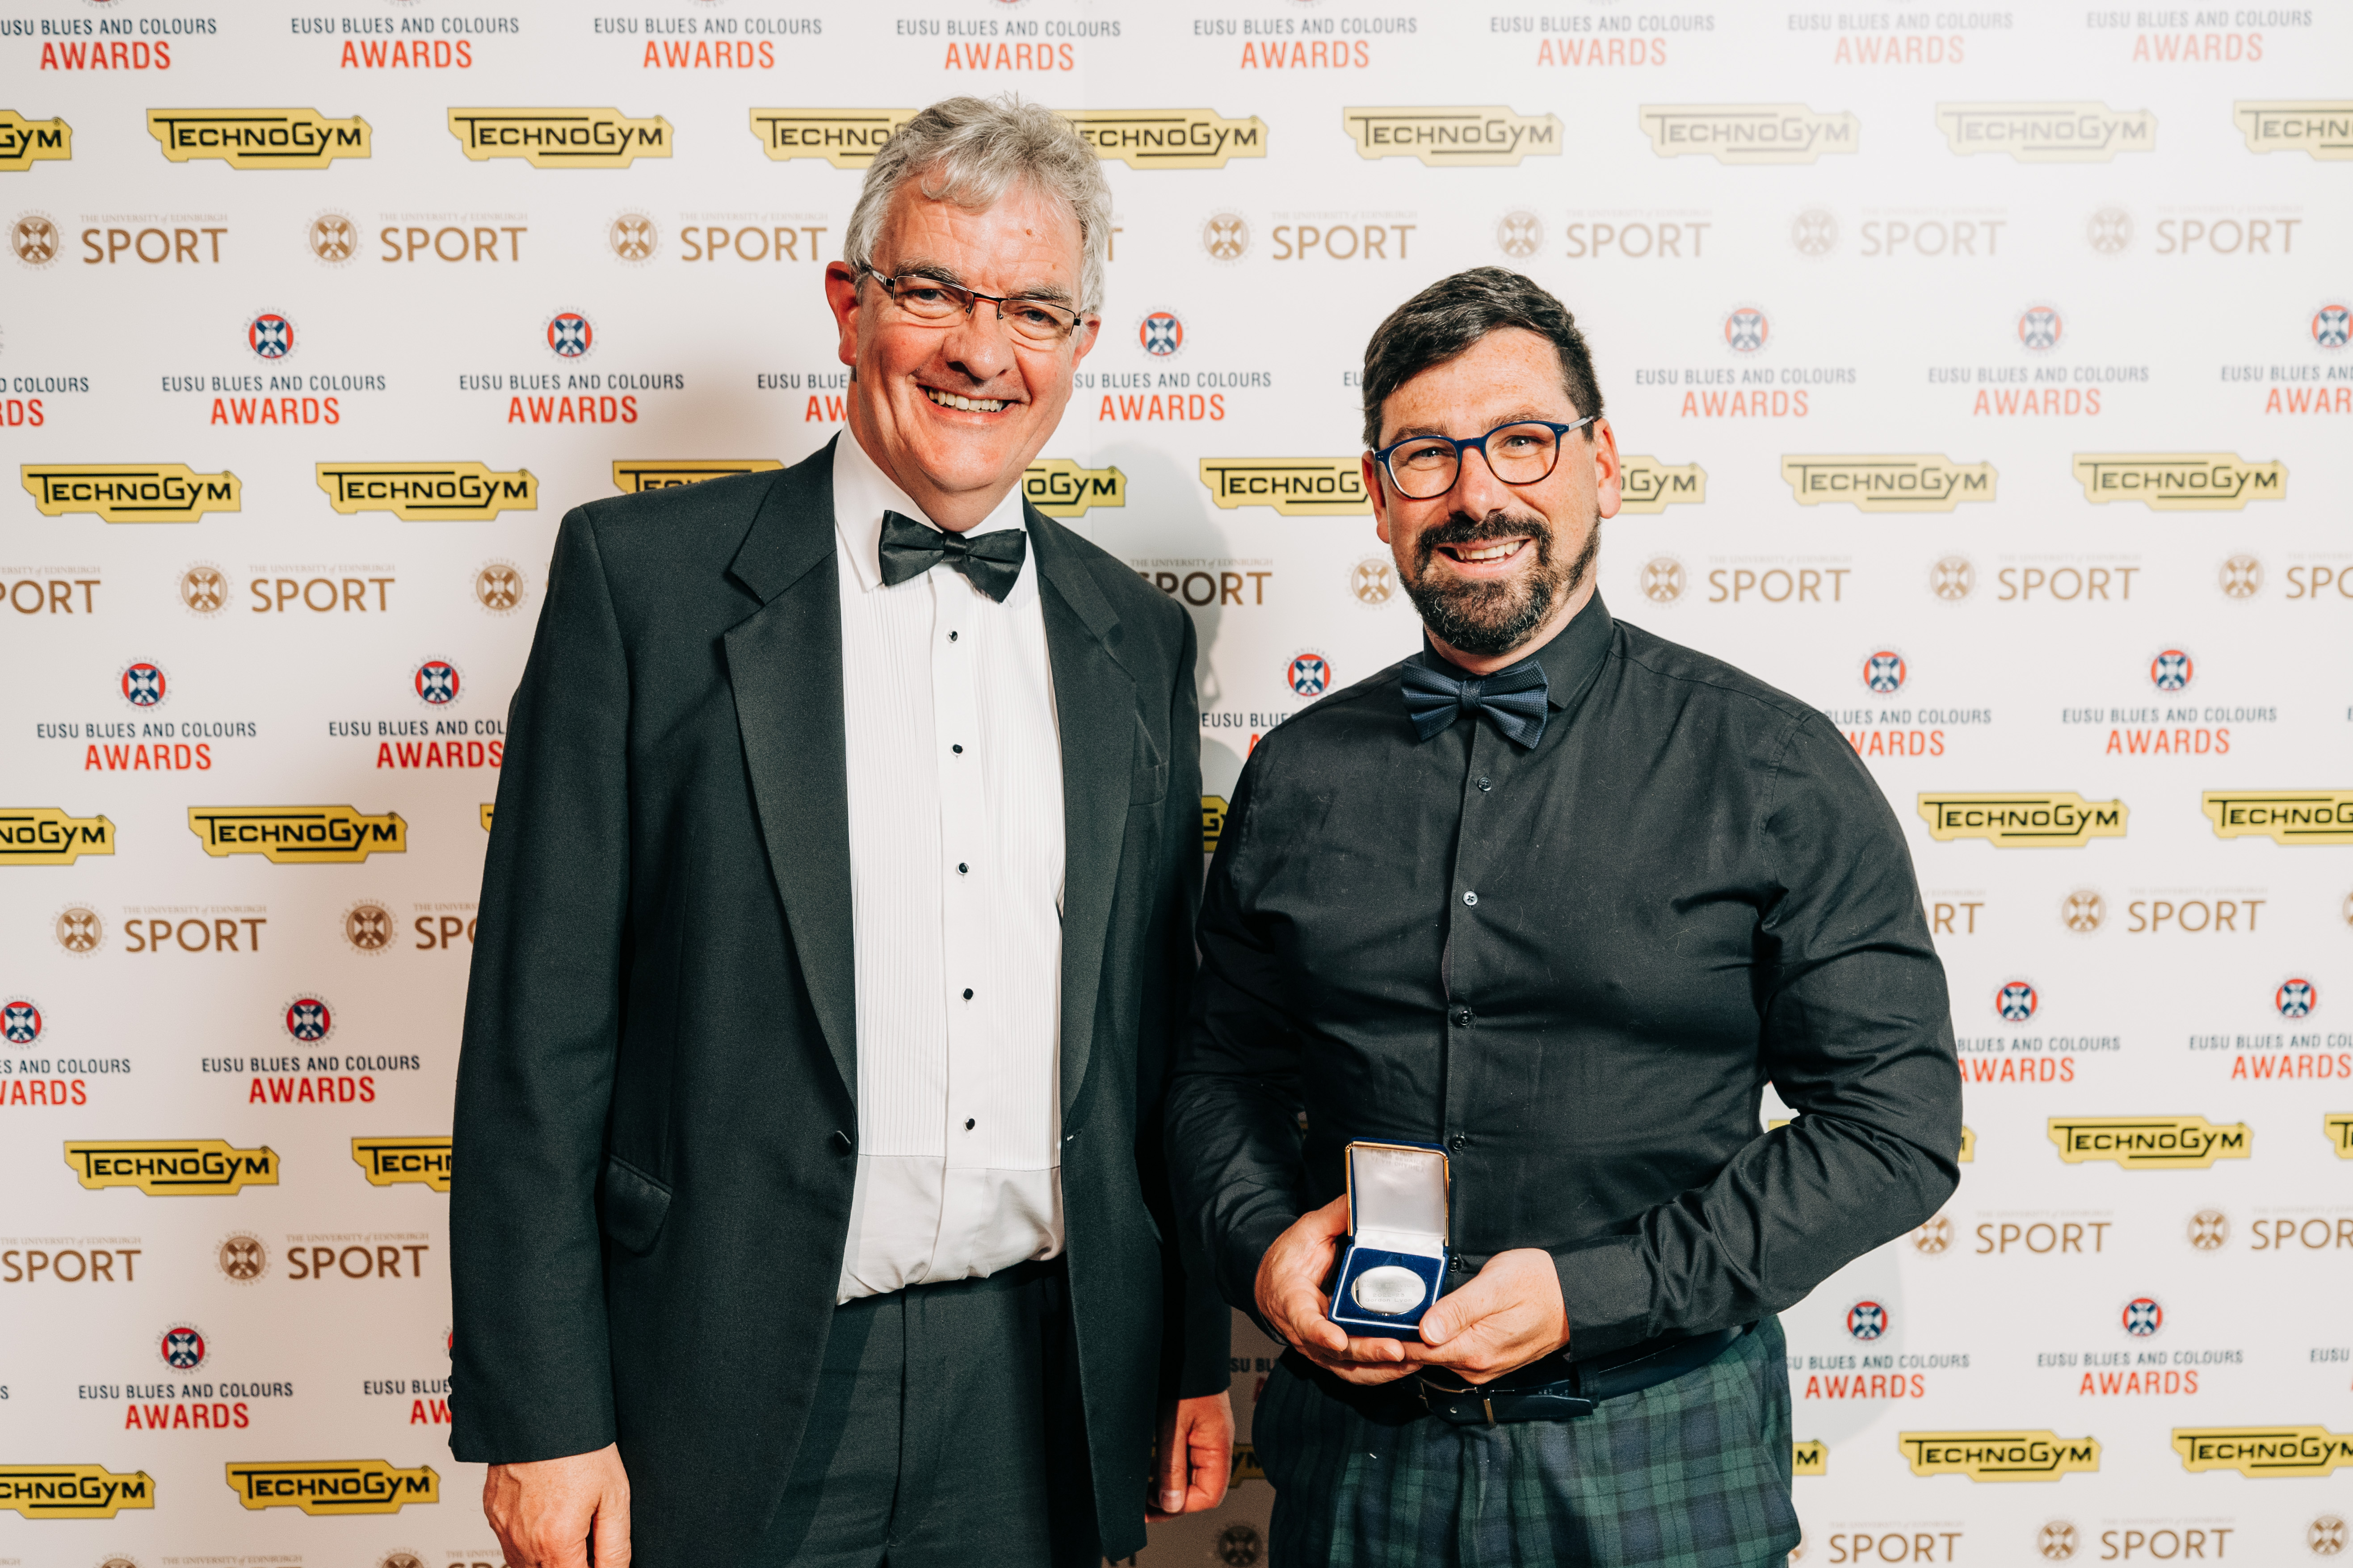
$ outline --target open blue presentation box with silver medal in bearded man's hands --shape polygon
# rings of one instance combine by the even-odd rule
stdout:
[[[1447,1151],[1348,1144],[1348,1250],[1332,1321],[1360,1340],[1414,1340],[1447,1276]]]

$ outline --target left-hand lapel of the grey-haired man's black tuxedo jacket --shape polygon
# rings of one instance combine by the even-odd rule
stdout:
[[[727,680],[776,892],[809,1005],[856,1099],[849,760],[833,447],[776,476],[727,574],[760,610],[725,633]]]

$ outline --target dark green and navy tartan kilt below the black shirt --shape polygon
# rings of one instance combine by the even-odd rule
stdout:
[[[1252,1417],[1268,1568],[1767,1568],[1798,1544],[1788,1361],[1762,1318],[1565,1422],[1367,1420],[1278,1366]]]

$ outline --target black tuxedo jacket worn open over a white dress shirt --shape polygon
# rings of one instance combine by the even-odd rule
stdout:
[[[1061,1189],[1094,1516],[1226,1387],[1160,1154],[1200,897],[1193,622],[1028,511],[1061,723]],[[619,1441],[640,1568],[734,1563],[793,1469],[849,1234],[856,1038],[833,450],[555,539],[456,1081],[449,1448]]]

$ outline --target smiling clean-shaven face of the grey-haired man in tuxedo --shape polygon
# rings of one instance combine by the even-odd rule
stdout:
[[[925,198],[920,184],[906,181],[892,200],[873,247],[878,273],[1078,308],[1078,221],[1059,202],[1014,186],[972,212]],[[1061,424],[1071,372],[1101,327],[1085,320],[1059,346],[1038,348],[986,301],[946,323],[913,320],[845,261],[826,268],[826,301],[852,367],[849,436],[951,530],[972,527],[1021,483]]]

